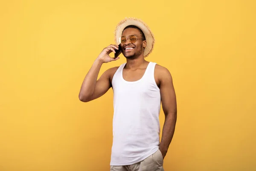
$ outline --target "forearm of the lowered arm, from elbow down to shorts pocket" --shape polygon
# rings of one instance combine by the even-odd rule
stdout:
[[[161,139],[160,148],[159,148],[163,154],[163,157],[166,156],[169,145],[172,141],[172,137],[175,131],[176,120],[177,120],[177,113],[166,114],[164,125],[163,125],[162,139]]]

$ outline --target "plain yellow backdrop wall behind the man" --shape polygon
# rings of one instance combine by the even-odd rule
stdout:
[[[255,171],[255,9],[255,0],[1,1],[0,171],[109,171],[113,92],[89,103],[78,94],[124,17],[150,26],[146,60],[173,76],[165,170]]]

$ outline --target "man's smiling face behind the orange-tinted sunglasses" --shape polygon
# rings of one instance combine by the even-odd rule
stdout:
[[[122,36],[125,36],[126,38],[128,38],[130,35],[136,35],[137,38],[142,38],[142,35],[138,29],[127,28],[122,33]],[[131,43],[129,40],[127,40],[124,44],[121,44],[122,54],[125,56],[125,58],[135,59],[144,53],[143,46],[145,46],[145,40],[143,39],[137,39],[135,43]],[[126,49],[129,47],[133,49]]]

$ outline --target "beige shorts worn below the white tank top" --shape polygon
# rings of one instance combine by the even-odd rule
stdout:
[[[110,171],[164,171],[163,170],[163,155],[160,150],[144,159],[141,162],[133,165],[125,166],[110,166]]]

